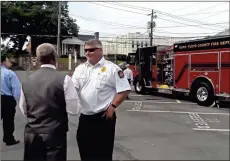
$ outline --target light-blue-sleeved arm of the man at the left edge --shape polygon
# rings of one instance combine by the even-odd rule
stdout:
[[[16,101],[20,99],[20,94],[21,94],[21,83],[17,77],[17,75],[11,71],[11,87],[12,87],[12,94]]]

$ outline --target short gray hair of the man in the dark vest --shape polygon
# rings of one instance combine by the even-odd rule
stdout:
[[[56,61],[57,53],[52,44],[43,43],[37,47],[36,56],[38,62],[49,64],[51,60]]]

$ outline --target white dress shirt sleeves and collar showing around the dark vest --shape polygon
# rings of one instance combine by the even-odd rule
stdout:
[[[41,65],[42,67],[49,67],[49,68],[53,68],[56,69],[55,66],[50,65],[50,64],[44,64]],[[78,93],[74,87],[74,84],[71,80],[71,77],[66,75],[65,80],[63,82],[63,88],[64,88],[64,92],[65,92],[65,102],[66,102],[66,111],[70,114],[70,115],[77,115],[80,111],[79,108],[79,97],[78,97]],[[20,101],[19,101],[19,108],[21,109],[22,113],[24,116],[26,116],[26,101],[25,101],[25,96],[23,93],[23,90],[21,88],[21,97],[20,97]]]

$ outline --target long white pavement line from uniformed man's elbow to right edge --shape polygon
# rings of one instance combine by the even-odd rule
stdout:
[[[129,112],[152,112],[152,113],[175,113],[175,114],[191,114],[194,112],[188,112],[188,111],[158,111],[158,110],[126,110]],[[229,113],[210,113],[210,112],[196,112],[197,114],[202,115],[224,115],[229,116]]]

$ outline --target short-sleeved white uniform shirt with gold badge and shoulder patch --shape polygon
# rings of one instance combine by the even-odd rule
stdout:
[[[131,90],[128,80],[119,77],[119,71],[120,67],[104,57],[94,66],[86,62],[76,67],[72,80],[79,91],[81,113],[105,111],[117,93]]]

